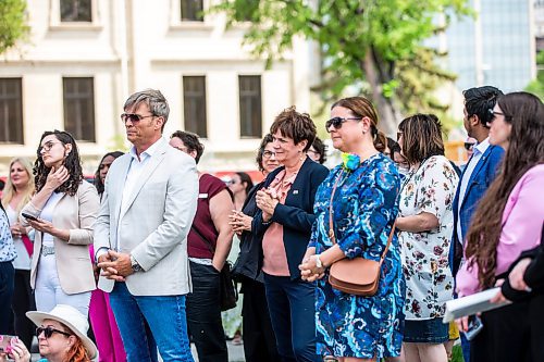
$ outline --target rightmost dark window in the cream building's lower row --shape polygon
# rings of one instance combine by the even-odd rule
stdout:
[[[239,135],[260,138],[262,136],[262,104],[260,75],[240,75],[239,83]]]

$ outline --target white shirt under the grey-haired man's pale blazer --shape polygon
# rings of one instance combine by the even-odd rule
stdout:
[[[147,150],[141,152],[139,159],[136,154],[136,147],[133,146],[131,148],[131,151],[128,153],[133,159],[131,161],[131,165],[128,166],[128,173],[126,174],[125,187],[123,188],[123,197],[121,198],[120,215],[123,215],[128,209],[128,200],[134,190],[134,186],[137,184],[141,173],[149,164],[149,160],[151,160],[151,157],[156,153],[157,148],[160,145],[159,140],[151,145]],[[119,223],[118,226],[118,251],[121,250],[121,225],[122,223]],[[100,257],[101,254],[102,253],[99,253],[97,254],[97,257]]]

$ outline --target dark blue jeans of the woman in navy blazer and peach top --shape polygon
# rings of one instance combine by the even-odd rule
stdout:
[[[321,361],[316,350],[316,287],[264,274],[270,320],[283,362]]]

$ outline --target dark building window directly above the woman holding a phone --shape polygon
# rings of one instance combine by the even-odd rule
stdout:
[[[64,129],[77,140],[94,142],[95,90],[92,78],[62,78]]]

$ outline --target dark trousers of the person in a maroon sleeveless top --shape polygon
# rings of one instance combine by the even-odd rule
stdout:
[[[212,265],[189,261],[193,292],[187,295],[187,326],[200,362],[227,362],[221,321],[219,272]]]

